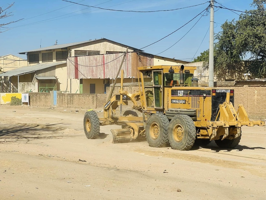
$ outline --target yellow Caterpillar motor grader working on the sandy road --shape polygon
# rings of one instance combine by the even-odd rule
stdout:
[[[173,149],[188,150],[200,139],[205,144],[214,140],[221,148],[235,148],[241,126],[265,126],[264,121],[251,121],[241,104],[235,110],[234,90],[199,85],[193,78],[195,69],[183,65],[138,67],[139,91],[133,94],[123,89],[121,70],[119,94],[112,96],[112,88],[104,117],[98,118],[95,111],[85,113],[87,138],[96,138],[100,126],[116,124],[122,128],[111,130],[113,142],[146,137],[151,147],[169,142]],[[130,101],[142,116],[135,111],[122,115],[122,106]]]

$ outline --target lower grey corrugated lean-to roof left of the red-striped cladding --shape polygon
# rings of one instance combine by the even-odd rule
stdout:
[[[27,74],[27,73],[31,73],[31,72],[35,72],[37,70],[42,70],[48,67],[52,67],[52,66],[56,66],[56,65],[60,65],[60,64],[64,64],[66,63],[66,61],[63,62],[51,62],[51,63],[40,63],[37,65],[32,65],[32,66],[24,66],[24,67],[18,67],[14,70],[10,70],[6,73],[2,73],[0,74],[0,76],[17,76],[20,74]]]

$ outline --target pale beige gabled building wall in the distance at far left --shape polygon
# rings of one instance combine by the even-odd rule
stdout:
[[[0,56],[0,68],[2,68],[2,72],[14,70],[22,66],[27,66],[27,60],[11,54]]]

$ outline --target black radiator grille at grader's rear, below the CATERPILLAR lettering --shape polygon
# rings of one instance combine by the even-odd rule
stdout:
[[[219,104],[225,102],[226,92],[217,92],[215,96],[212,96],[212,116],[211,121],[214,121],[219,111]],[[234,96],[230,96],[230,102],[234,105]],[[219,116],[218,116],[219,119]]]

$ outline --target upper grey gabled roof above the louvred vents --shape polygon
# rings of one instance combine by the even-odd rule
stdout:
[[[100,40],[102,40],[102,41],[100,41]],[[43,48],[34,49],[34,50],[30,50],[30,51],[20,52],[19,54],[25,54],[27,52],[34,52],[34,51],[46,51],[46,50],[52,50],[52,49],[62,49],[62,48],[75,46],[75,45],[78,45],[78,44],[83,44],[83,43],[87,43],[87,42],[93,42],[93,41],[99,41],[99,42],[109,41],[109,42],[120,44],[120,45],[125,46],[125,47],[129,47],[129,46],[125,45],[125,44],[118,43],[118,42],[115,42],[115,41],[112,41],[112,40],[108,40],[108,39],[102,38],[102,39],[98,39],[98,40],[87,40],[87,41],[83,41],[83,42],[57,44],[57,45],[53,45],[53,46],[49,46],[49,47],[43,47]],[[129,48],[131,48],[133,50],[137,50],[137,48],[134,48],[134,47],[129,47]],[[142,50],[140,50],[140,51],[142,51]]]

